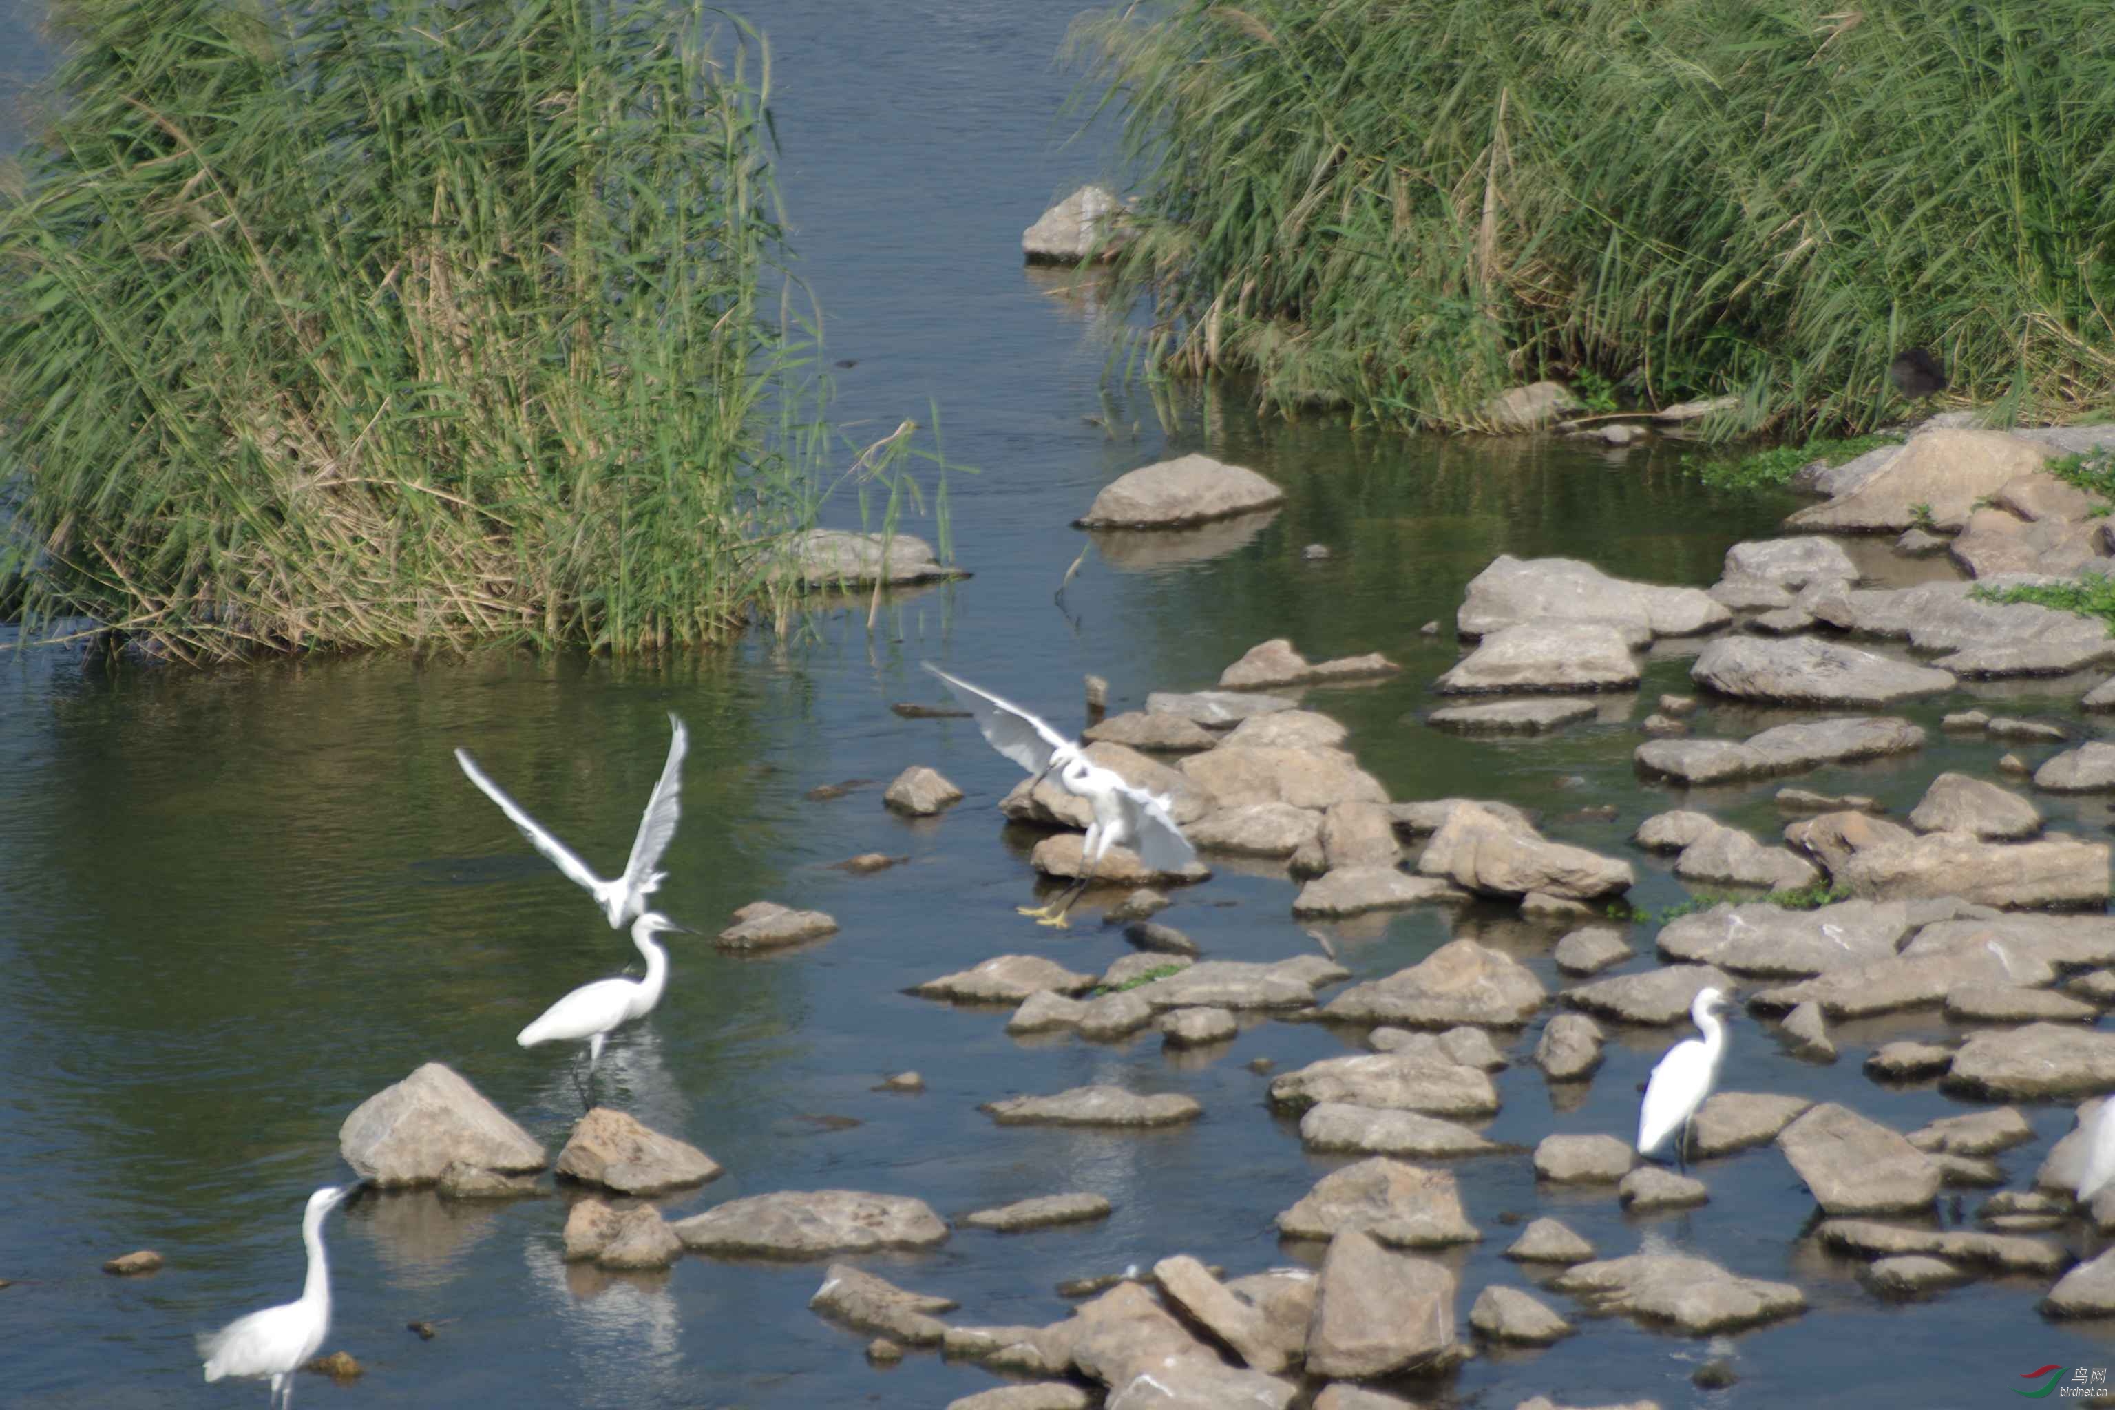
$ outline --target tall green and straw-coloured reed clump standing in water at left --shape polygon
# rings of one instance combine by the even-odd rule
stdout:
[[[53,116],[0,192],[30,636],[632,651],[783,602],[829,438],[753,30],[615,0],[53,21]]]

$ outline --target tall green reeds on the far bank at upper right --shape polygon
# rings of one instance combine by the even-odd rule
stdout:
[[[2098,0],[1184,0],[1074,30],[1151,366],[1474,427],[1497,391],[1899,419],[1923,345],[2018,416],[2115,400]]]

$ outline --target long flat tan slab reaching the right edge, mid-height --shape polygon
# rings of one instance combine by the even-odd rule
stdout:
[[[2109,898],[2109,843],[2049,837],[1994,843],[1931,833],[1851,856],[1836,884],[1853,896],[1958,896],[1994,907],[2098,907]]]

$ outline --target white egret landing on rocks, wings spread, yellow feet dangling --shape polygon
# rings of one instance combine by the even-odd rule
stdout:
[[[1064,738],[1011,700],[958,681],[933,662],[926,662],[924,668],[969,706],[977,729],[983,731],[992,748],[1034,774],[1036,782],[1053,774],[1066,793],[1087,799],[1093,810],[1093,824],[1087,827],[1087,839],[1081,843],[1079,879],[1049,905],[1017,907],[1022,915],[1034,915],[1036,924],[1043,926],[1064,926],[1066,911],[1085,894],[1102,856],[1115,846],[1132,848],[1138,852],[1138,860],[1153,871],[1182,871],[1197,860],[1197,850],[1176,827],[1165,797],[1123,782],[1121,774],[1087,759],[1074,740]]]

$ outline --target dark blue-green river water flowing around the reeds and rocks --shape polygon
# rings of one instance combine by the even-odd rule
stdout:
[[[613,1040],[605,1093],[728,1167],[660,1201],[675,1216],[768,1190],[916,1194],[939,1213],[1060,1190],[1098,1190],[1108,1220],[1028,1235],[960,1228],[937,1251],[863,1260],[907,1287],[958,1298],[960,1323],[1045,1323],[1055,1283],[1189,1251],[1229,1273],[1311,1262],[1273,1216],[1339,1158],[1307,1156],[1263,1106],[1277,1070],[1347,1051],[1318,1025],[1254,1023],[1220,1049],[1163,1053],[1146,1032],[1091,1044],[1017,1042],[1005,1010],[948,1008],[907,985],[998,953],[1100,970],[1129,947],[1091,911],[1070,932],[1013,913],[1034,894],[1028,837],[996,799],[1017,769],[967,721],[907,721],[890,702],[937,702],[939,662],[1077,727],[1081,676],[1112,708],[1148,689],[1195,689],[1256,641],[1309,657],[1383,651],[1381,685],[1309,691],[1351,727],[1349,746],[1396,799],[1495,797],[1533,808],[1559,839],[1629,856],[1633,901],[1686,890],[1629,848],[1637,822],[1684,795],[1641,786],[1635,721],[1686,689],[1686,651],[1654,653],[1637,695],[1535,742],[1466,742],[1421,723],[1455,657],[1464,583],[1497,552],[1590,558],[1624,577],[1709,583],[1726,545],[1766,535],[1787,501],[1700,488],[1675,450],[1559,442],[1356,435],[1330,421],[1263,423],[1235,393],[1178,397],[1163,425],[1142,389],[1104,389],[1091,307],[1019,264],[1019,230],[1108,163],[1104,133],[1066,144],[1070,78],[1051,55],[1066,15],[986,4],[778,4],[774,42],[783,182],[802,275],[827,317],[846,435],[876,440],[937,402],[952,461],[960,560],[952,588],[825,611],[789,638],[656,662],[588,657],[271,662],[212,674],[85,672],[63,653],[0,670],[0,1402],[123,1408],[252,1404],[254,1385],[199,1380],[192,1334],[294,1296],[307,1192],[347,1171],[343,1116],[423,1061],[446,1061],[556,1152],[577,1112],[571,1055],[514,1034],[550,1000],[632,956],[582,894],[533,856],[457,772],[486,769],[590,862],[615,865],[666,748],[668,710],[692,729],[685,818],[662,909],[702,930],[759,896],[833,913],[842,930],[770,958],[675,936],[662,1006]],[[1096,416],[1106,425],[1091,425]],[[1136,423],[1136,433],[1134,433]],[[867,433],[867,427],[873,427]],[[1108,543],[1051,605],[1081,535],[1066,524],[1117,474],[1210,450],[1288,490],[1263,526]],[[857,522],[846,501],[835,522]],[[916,528],[916,526],[914,526]],[[1303,558],[1307,543],[1332,556]],[[2071,712],[2077,683],[1965,689],[1908,710],[1931,744],[1901,761],[1796,782],[1876,793],[1897,814],[1946,767],[1988,776],[1994,742],[1942,738],[1973,702]],[[1711,708],[1698,734],[1745,736],[1781,717]],[[2022,750],[2028,753],[2028,750]],[[2045,748],[2033,750],[2039,757]],[[969,797],[905,822],[880,784],[928,763]],[[833,801],[816,784],[873,780]],[[1688,795],[1758,833],[1781,824],[1779,784]],[[2100,835],[2102,803],[2037,799],[2060,829]],[[1614,818],[1582,808],[1614,805]],[[884,852],[907,865],[852,877],[833,862]],[[1294,886],[1220,865],[1163,920],[1210,956],[1311,953]],[[1563,928],[1506,909],[1440,909],[1322,926],[1360,977],[1413,964],[1453,934],[1514,953],[1552,989]],[[1652,964],[1650,926],[1633,932]],[[1538,1025],[1504,1042],[1502,1112],[1487,1135],[1635,1131],[1637,1082],[1673,1040],[1618,1032],[1584,1095],[1525,1063]],[[1817,1068],[1739,1019],[1724,1087],[1838,1099],[1899,1129],[1971,1110],[1933,1084],[1880,1087],[1865,1053],[1946,1036],[1935,1013],[1836,1029]],[[876,1093],[916,1068],[920,1095]],[[1000,1129],[977,1103],[1087,1082],[1182,1091],[1203,1118],[1161,1133]],[[2066,1106],[2026,1108],[2037,1142],[2001,1156],[2024,1186],[2068,1129]],[[848,1120],[846,1120],[848,1118]],[[848,1125],[857,1123],[857,1125]],[[1580,1319],[1548,1351],[1487,1351],[1421,1391],[1430,1404],[1656,1399],[1762,1408],[2009,1404],[2020,1372],[2107,1366],[2104,1328],[2045,1321],[2039,1281],[1986,1279],[1895,1306],[1853,1262],[1804,1235],[1813,1203],[1770,1148],[1700,1167],[1711,1203],[1631,1218],[1612,1192],[1538,1190],[1525,1156],[1453,1163],[1483,1241],[1447,1256],[1459,1313],[1489,1283],[1531,1287],[1500,1258],[1502,1216],[1555,1213],[1605,1256],[1686,1249],[1736,1273],[1798,1283],[1810,1309],[1774,1328],[1686,1338]],[[1967,1194],[1969,1207],[1980,1194]],[[353,1387],[305,1376],[315,1406],[941,1406],[996,1385],[914,1353],[873,1370],[863,1334],[806,1311],[823,1264],[683,1258],[620,1277],[560,1260],[563,1199],[503,1207],[431,1194],[364,1201],[328,1224],[336,1319],[328,1347],[366,1368]],[[104,1258],[167,1256],[144,1279]],[[1550,1302],[1576,1315],[1557,1296]],[[440,1323],[429,1342],[406,1321]],[[1730,1357],[1739,1383],[1690,1374]]]

